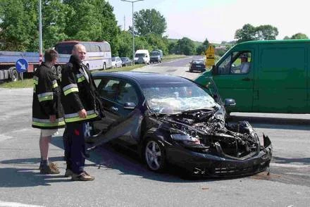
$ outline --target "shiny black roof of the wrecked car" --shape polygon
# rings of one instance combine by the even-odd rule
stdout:
[[[145,72],[98,72],[93,73],[94,77],[119,77],[126,78],[137,82],[138,84],[149,84],[151,82],[171,82],[171,83],[188,83],[191,82],[184,77],[178,77],[174,75],[165,75],[159,73],[145,73]]]

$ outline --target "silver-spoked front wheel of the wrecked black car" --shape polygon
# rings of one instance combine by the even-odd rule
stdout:
[[[161,172],[166,167],[166,154],[163,145],[156,139],[147,139],[144,145],[144,160],[147,168],[154,172]]]

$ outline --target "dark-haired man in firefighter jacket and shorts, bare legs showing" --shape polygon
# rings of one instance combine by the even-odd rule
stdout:
[[[49,142],[51,135],[64,127],[63,108],[61,106],[61,90],[58,87],[57,76],[52,67],[57,62],[58,53],[54,49],[45,51],[44,62],[33,75],[34,88],[32,100],[32,127],[41,129],[39,149],[42,174],[58,174],[55,163],[49,163]]]

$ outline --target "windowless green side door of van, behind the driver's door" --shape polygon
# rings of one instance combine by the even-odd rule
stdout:
[[[306,113],[306,47],[292,43],[261,45],[259,57],[257,111]]]

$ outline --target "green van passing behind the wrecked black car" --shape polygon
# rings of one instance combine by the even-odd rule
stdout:
[[[310,113],[310,39],[242,42],[195,82],[208,77],[230,112]]]

